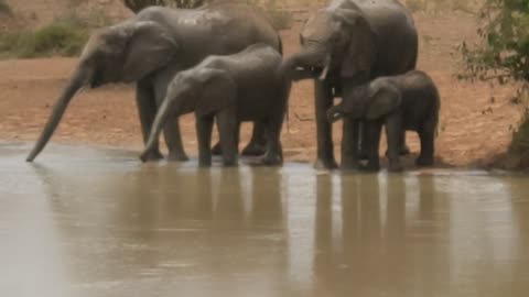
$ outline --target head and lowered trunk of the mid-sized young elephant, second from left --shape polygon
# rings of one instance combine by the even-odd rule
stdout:
[[[198,66],[179,73],[168,86],[165,99],[158,110],[140,160],[145,162],[149,153],[154,150],[170,117],[192,111],[195,111],[197,118],[213,116],[220,109],[235,103],[236,86],[227,73]]]

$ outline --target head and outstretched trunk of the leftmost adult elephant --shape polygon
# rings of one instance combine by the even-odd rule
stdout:
[[[53,108],[47,123],[28,156],[32,162],[44,148],[68,103],[83,87],[132,82],[164,67],[179,45],[171,34],[152,21],[126,21],[96,32],[79,57],[69,81]]]

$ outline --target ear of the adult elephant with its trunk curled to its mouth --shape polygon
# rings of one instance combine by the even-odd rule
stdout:
[[[336,18],[350,38],[342,61],[342,77],[368,80],[377,55],[376,33],[366,16],[358,11],[341,9],[336,11]]]

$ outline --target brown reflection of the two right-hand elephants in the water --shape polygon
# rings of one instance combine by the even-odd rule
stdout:
[[[334,178],[339,179],[339,187],[333,186],[333,176],[319,176],[316,183],[314,274],[317,295],[410,296],[419,293],[428,296],[445,289],[441,286],[450,275],[443,265],[449,251],[435,250],[433,246],[439,245],[435,242],[433,246],[421,245],[410,235],[423,221],[434,219],[432,179],[419,183],[417,215],[420,220],[410,221],[407,205],[413,196],[407,191],[406,177],[388,176],[384,180],[378,175],[343,175]],[[332,197],[338,191],[342,233],[336,238],[333,221],[337,218],[333,216],[339,212],[333,210]],[[432,257],[432,253],[438,256]]]

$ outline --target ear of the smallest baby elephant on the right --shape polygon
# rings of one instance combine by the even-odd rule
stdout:
[[[376,120],[391,113],[402,101],[400,91],[393,86],[374,87],[366,111],[368,120]]]

